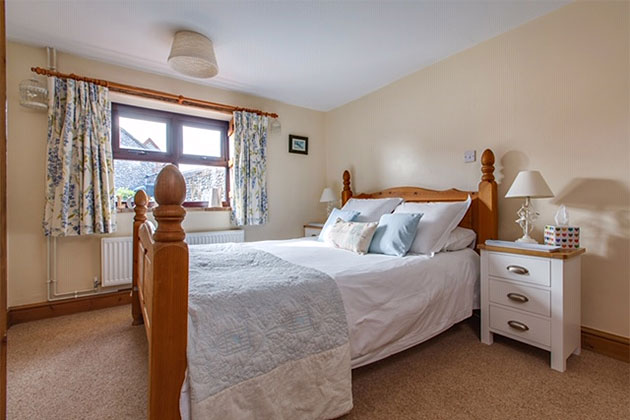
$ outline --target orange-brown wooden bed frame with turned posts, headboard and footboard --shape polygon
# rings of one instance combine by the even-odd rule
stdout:
[[[481,156],[481,182],[478,191],[427,190],[399,187],[355,198],[402,197],[411,202],[463,201],[472,196],[470,209],[460,226],[474,229],[478,243],[496,239],[498,226],[497,184],[494,181],[494,154],[487,149]],[[149,343],[150,420],[179,419],[179,398],[186,372],[188,341],[188,245],[182,221],[186,210],[184,177],[168,165],[157,177],[153,211],[157,229],[147,222],[148,198],[144,191],[135,196],[133,223],[133,325],[145,325]],[[343,173],[342,204],[353,197],[350,173]]]

